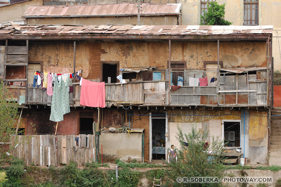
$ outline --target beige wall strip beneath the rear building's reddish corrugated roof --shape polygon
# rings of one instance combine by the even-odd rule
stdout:
[[[51,1],[49,1],[51,2]],[[177,25],[176,15],[141,16],[141,25]],[[27,25],[137,25],[137,16],[25,18]]]

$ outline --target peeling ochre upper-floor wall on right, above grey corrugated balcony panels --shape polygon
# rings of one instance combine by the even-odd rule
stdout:
[[[217,61],[217,43],[174,43],[171,60],[186,60],[188,69],[203,68],[204,61]],[[220,42],[220,61],[224,67],[266,67],[266,43]]]

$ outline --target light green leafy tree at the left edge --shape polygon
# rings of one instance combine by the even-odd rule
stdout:
[[[30,136],[24,136],[22,141],[18,141],[16,134],[16,128],[14,125],[18,123],[18,103],[16,103],[11,94],[5,90],[3,81],[0,81],[0,165],[1,163],[10,160],[11,151],[15,147],[10,146],[11,139],[15,140],[15,145],[22,143],[28,143]],[[19,132],[19,131],[18,131]]]

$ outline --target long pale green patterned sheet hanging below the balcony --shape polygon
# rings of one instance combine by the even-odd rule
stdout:
[[[68,79],[69,77],[67,77],[65,83],[55,79],[50,115],[51,121],[60,122],[64,120],[64,114],[70,112]]]

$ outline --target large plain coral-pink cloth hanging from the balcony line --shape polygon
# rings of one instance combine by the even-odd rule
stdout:
[[[80,105],[104,108],[104,82],[92,82],[86,79],[81,79]]]

